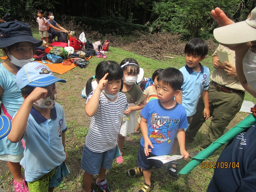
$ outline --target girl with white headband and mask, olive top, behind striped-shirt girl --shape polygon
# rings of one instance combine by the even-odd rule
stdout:
[[[118,147],[123,155],[122,149],[125,137],[127,133],[132,133],[134,128],[136,128],[136,111],[145,106],[146,100],[140,86],[135,84],[140,72],[138,62],[133,58],[126,58],[122,60],[120,66],[124,72],[124,87],[122,93],[126,95],[128,102],[128,109],[124,112],[124,118],[118,136]],[[116,158],[116,162],[119,165],[123,164],[123,156]]]

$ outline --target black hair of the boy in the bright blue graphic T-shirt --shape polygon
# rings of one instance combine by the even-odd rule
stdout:
[[[180,70],[169,67],[160,72],[157,81],[162,81],[163,84],[170,86],[174,91],[180,90],[183,84],[183,74]]]

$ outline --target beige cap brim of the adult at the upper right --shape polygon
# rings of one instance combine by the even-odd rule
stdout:
[[[256,40],[256,29],[245,21],[216,28],[214,38],[222,44],[239,44]]]

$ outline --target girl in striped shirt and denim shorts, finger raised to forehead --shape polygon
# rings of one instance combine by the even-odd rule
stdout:
[[[102,61],[96,67],[96,75],[87,81],[85,112],[91,117],[91,123],[81,160],[81,168],[85,171],[83,192],[94,192],[91,184],[96,174],[100,190],[110,192],[104,176],[112,167],[123,114],[128,107],[125,94],[120,92],[122,77],[122,69],[116,62]],[[96,78],[98,86],[90,94],[93,78]]]

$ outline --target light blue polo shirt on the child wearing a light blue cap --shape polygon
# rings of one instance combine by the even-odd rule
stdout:
[[[31,108],[23,139],[24,158],[20,165],[25,169],[25,179],[33,182],[53,170],[66,159],[62,145],[62,133],[67,130],[64,110],[58,103],[46,119],[34,107]]]

